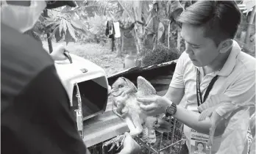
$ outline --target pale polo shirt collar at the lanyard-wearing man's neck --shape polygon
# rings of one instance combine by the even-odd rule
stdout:
[[[230,73],[232,73],[232,70],[235,67],[236,58],[240,53],[240,51],[241,51],[240,46],[235,40],[233,40],[230,56],[227,58],[227,61],[225,62],[224,66],[219,71],[218,76],[229,76]]]

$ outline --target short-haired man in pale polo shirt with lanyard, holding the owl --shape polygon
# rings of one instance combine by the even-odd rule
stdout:
[[[224,94],[238,106],[255,107],[255,58],[243,53],[233,40],[241,22],[235,1],[197,1],[182,12],[178,21],[186,50],[177,61],[168,92],[164,97],[154,95],[138,101],[149,115],[167,111],[185,124],[182,153],[189,153],[191,131],[209,134],[210,118],[199,121],[197,109],[206,98]],[[212,88],[208,88],[210,81]],[[184,95],[187,109],[176,105]],[[212,153],[246,153],[249,107],[232,111],[227,117],[224,112],[217,112],[223,118],[216,128]]]

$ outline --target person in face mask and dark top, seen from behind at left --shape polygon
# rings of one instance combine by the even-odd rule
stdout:
[[[49,1],[1,1],[1,153],[90,153],[42,45],[25,34]],[[70,1],[50,1],[51,8]],[[73,1],[74,3],[74,1]],[[57,58],[56,58],[57,57]],[[129,134],[122,154],[138,150]],[[86,136],[85,136],[86,137]],[[129,146],[132,144],[133,146]],[[128,146],[127,146],[128,145]]]

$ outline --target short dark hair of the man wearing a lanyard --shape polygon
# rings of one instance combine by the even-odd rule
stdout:
[[[179,23],[205,27],[205,37],[216,45],[234,39],[241,23],[241,12],[235,1],[196,1],[182,12]]]

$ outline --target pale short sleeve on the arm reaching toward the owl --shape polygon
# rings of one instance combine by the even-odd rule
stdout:
[[[184,80],[183,80],[183,67],[184,67],[184,57],[185,53],[183,52],[179,59],[177,60],[177,64],[174,70],[174,75],[171,79],[170,87],[174,88],[185,88],[184,86]]]

